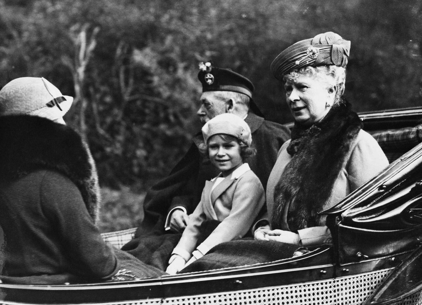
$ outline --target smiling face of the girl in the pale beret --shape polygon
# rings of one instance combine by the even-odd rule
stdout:
[[[208,140],[208,154],[211,163],[222,171],[224,177],[243,163],[239,143],[236,140],[227,141],[219,134]]]

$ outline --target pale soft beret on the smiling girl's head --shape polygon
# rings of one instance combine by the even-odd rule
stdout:
[[[216,134],[229,134],[248,146],[252,143],[251,129],[248,124],[232,113],[217,115],[202,127],[205,143]]]

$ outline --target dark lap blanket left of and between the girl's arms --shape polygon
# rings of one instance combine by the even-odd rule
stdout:
[[[197,245],[202,243],[219,224],[216,220],[208,220],[203,222],[200,227],[200,237]],[[181,234],[164,234],[164,235],[146,235],[133,238],[122,247],[122,250],[127,251],[142,262],[154,266],[160,270],[165,271],[168,266],[171,252],[179,243]]]

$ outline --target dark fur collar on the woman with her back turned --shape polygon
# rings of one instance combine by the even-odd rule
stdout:
[[[76,131],[36,116],[3,116],[0,147],[0,179],[19,179],[38,169],[58,171],[78,187],[89,214],[97,219],[97,171],[87,144]]]

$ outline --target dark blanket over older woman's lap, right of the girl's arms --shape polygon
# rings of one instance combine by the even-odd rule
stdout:
[[[220,243],[179,273],[254,265],[290,258],[299,248],[290,243],[242,239]]]

